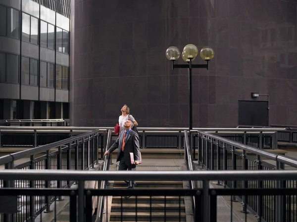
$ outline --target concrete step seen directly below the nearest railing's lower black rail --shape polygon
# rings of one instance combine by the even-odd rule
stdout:
[[[121,199],[123,204],[135,204],[136,196],[131,196],[129,199],[125,199],[125,197],[120,196],[113,196],[112,197],[112,204],[121,203]],[[150,196],[138,196],[137,197],[137,204],[148,204],[150,201]],[[165,197],[164,196],[152,196],[151,197],[151,203],[152,204],[164,204]],[[179,198],[178,196],[166,196],[166,205],[167,204],[184,204],[184,197],[181,196]]]

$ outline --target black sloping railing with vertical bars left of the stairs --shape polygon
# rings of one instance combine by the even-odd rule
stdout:
[[[38,148],[12,153],[0,157],[0,166],[7,169],[20,170],[88,170],[94,168],[100,157],[103,156],[103,146],[100,146],[100,138],[104,134],[100,130],[94,130],[79,136],[74,136],[62,141],[54,142]],[[101,141],[103,139],[101,138]],[[40,171],[41,170],[41,171]],[[42,174],[42,173],[41,173]],[[0,180],[2,188],[65,188],[70,187],[74,180],[39,180],[29,181],[17,179],[13,182]],[[50,211],[50,204],[55,201],[55,195],[44,197],[18,196],[18,212],[14,215],[14,221],[32,220],[42,211]],[[58,196],[61,199],[61,196]],[[0,214],[1,215],[1,214]],[[2,214],[2,219],[6,218]],[[6,220],[6,219],[5,219]],[[4,220],[4,221],[5,221]]]

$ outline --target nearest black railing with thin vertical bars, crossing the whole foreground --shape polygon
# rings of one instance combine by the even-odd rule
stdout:
[[[266,222],[296,222],[296,214],[294,217],[294,209],[296,204],[290,205],[290,208],[284,208],[282,203],[286,202],[288,199],[296,198],[297,188],[212,188],[209,187],[209,182],[214,180],[227,180],[227,181],[276,181],[276,183],[282,183],[283,181],[295,180],[297,177],[297,171],[295,170],[274,170],[274,171],[135,171],[133,173],[122,171],[65,171],[65,170],[44,170],[42,172],[37,172],[34,170],[5,170],[0,171],[0,179],[13,182],[15,180],[27,180],[29,182],[34,182],[38,180],[78,180],[77,188],[29,188],[29,189],[16,189],[13,187],[0,189],[0,196],[10,196],[10,198],[16,196],[27,196],[28,198],[34,199],[43,199],[46,196],[53,196],[54,203],[57,205],[59,196],[68,196],[70,198],[70,207],[68,210],[69,221],[71,222],[90,222],[93,220],[93,210],[94,206],[92,204],[93,197],[105,197],[113,196],[119,197],[119,211],[112,215],[113,218],[116,218],[119,221],[122,221],[124,216],[127,219],[127,215],[130,221],[186,221],[185,216],[190,218],[190,221],[195,222],[216,222],[218,218],[224,217],[225,221],[233,221],[234,214],[234,205],[236,202],[231,201],[230,207],[224,207],[220,205],[218,198],[225,197],[229,200],[233,200],[236,196],[244,196],[245,199],[250,197],[256,197],[259,200],[263,200],[267,196],[273,197],[274,200],[280,202],[278,204],[275,201],[275,211],[273,212],[273,217],[264,220],[262,217],[259,217],[258,221]],[[94,180],[133,180],[133,181],[202,181],[202,186],[199,188],[189,188],[189,189],[89,189],[85,187],[85,181],[94,181]],[[130,206],[134,210],[132,212],[123,212],[123,204],[125,204],[125,197],[131,196],[135,200],[135,204]],[[140,212],[138,204],[142,204],[142,197],[148,196],[149,202],[148,211]],[[159,206],[163,207],[163,213],[155,214],[154,208],[157,202],[160,201],[157,199],[157,196],[162,196],[162,203],[159,203]],[[181,212],[180,207],[172,212],[170,211],[170,201],[173,197],[176,197],[175,204],[180,206],[184,204],[182,198],[190,196],[195,197],[195,212],[193,216],[190,215],[191,211],[186,214]],[[106,201],[105,201],[106,202]],[[108,204],[106,202],[105,204]],[[167,207],[166,207],[167,206]],[[264,202],[261,202],[261,205],[258,205],[259,208],[264,206]],[[286,211],[284,211],[286,209]],[[17,208],[15,205],[11,205],[9,214],[8,209],[5,217],[10,217],[14,219],[17,215],[15,211]],[[244,210],[249,211],[248,205],[244,205]],[[54,218],[53,221],[58,221],[59,215],[56,208],[53,208]],[[229,213],[228,213],[229,211]],[[106,211],[105,215],[108,218],[109,212]],[[222,214],[222,215],[221,215]],[[228,216],[229,214],[229,216]],[[65,217],[65,213],[63,216]],[[226,217],[227,215],[227,217]],[[238,214],[236,214],[238,215]],[[39,221],[42,221],[45,215],[40,214]],[[191,218],[192,217],[192,218]],[[248,222],[248,215],[244,215],[243,221]],[[4,218],[6,220],[6,218]],[[4,220],[2,220],[4,221]]]

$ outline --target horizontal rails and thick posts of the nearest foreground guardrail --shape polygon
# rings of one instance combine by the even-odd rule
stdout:
[[[209,181],[213,180],[228,180],[228,181],[257,181],[275,180],[281,182],[284,180],[294,180],[297,177],[297,171],[290,170],[275,170],[275,171],[135,171],[133,173],[127,171],[65,171],[65,170],[5,170],[0,171],[0,179],[5,181],[14,180],[29,180],[38,181],[44,180],[78,180],[77,189],[15,189],[7,188],[0,189],[0,195],[28,195],[45,196],[45,195],[61,195],[70,196],[70,221],[71,222],[89,222],[92,221],[92,197],[94,196],[195,196],[196,208],[194,214],[195,222],[213,222],[217,220],[217,196],[238,196],[244,195],[257,196],[260,199],[264,196],[272,195],[279,199],[285,199],[288,196],[296,196],[297,189],[285,188],[267,188],[267,189],[222,189],[210,188]],[[202,188],[195,189],[87,189],[85,181],[94,180],[121,181],[121,180],[142,180],[142,181],[203,181]],[[78,202],[77,202],[78,197]],[[77,208],[78,204],[78,208]],[[166,206],[166,205],[165,205]],[[136,204],[137,208],[137,204]],[[151,208],[151,204],[150,204]],[[77,210],[78,209],[78,210]],[[207,211],[205,211],[207,209]],[[247,205],[245,205],[247,209]],[[231,213],[232,213],[231,209]],[[281,209],[279,209],[281,210]],[[77,218],[78,212],[78,218]],[[54,212],[55,214],[57,212]],[[276,214],[276,218],[272,221],[292,221],[287,219],[288,215]],[[137,221],[137,214],[136,220]],[[166,216],[165,216],[166,217]],[[151,218],[150,218],[151,219]],[[178,216],[177,216],[178,219]],[[291,217],[292,219],[292,217]],[[168,220],[168,219],[167,219]],[[294,220],[294,219],[293,219]],[[139,221],[139,220],[138,220]],[[231,217],[232,221],[232,217]],[[247,222],[247,218],[245,220]]]

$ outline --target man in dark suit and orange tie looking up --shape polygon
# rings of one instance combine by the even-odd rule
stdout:
[[[124,123],[123,130],[114,144],[104,153],[109,155],[118,148],[116,161],[120,161],[119,170],[136,170],[136,166],[140,160],[139,136],[132,128],[132,121],[128,119]],[[134,164],[131,164],[130,152],[134,154]],[[125,181],[128,184],[127,188],[134,188],[134,181]]]

